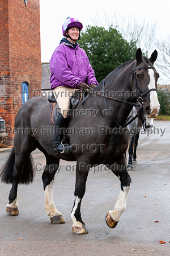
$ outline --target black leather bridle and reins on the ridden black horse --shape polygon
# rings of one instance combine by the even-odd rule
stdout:
[[[135,63],[136,65],[136,63]],[[102,94],[101,93],[96,93],[94,92],[94,90],[92,89],[85,89],[86,92],[89,92],[90,94],[95,94],[97,96],[100,96],[100,97],[103,97],[104,98],[104,102],[105,102],[105,106],[108,109],[108,105],[107,105],[107,101],[106,99],[108,100],[112,100],[112,101],[117,101],[117,102],[124,102],[126,104],[130,104],[130,105],[133,105],[135,106],[135,108],[137,108],[137,115],[135,115],[134,118],[132,118],[129,122],[125,123],[125,125],[121,126],[117,121],[116,119],[111,115],[111,118],[113,119],[113,121],[118,125],[118,127],[121,127],[122,129],[125,128],[126,126],[128,126],[131,122],[134,121],[134,119],[136,119],[139,114],[142,112],[143,110],[143,105],[144,105],[144,102],[143,102],[143,98],[148,94],[150,93],[151,91],[153,90],[156,90],[156,88],[151,88],[151,89],[148,89],[145,93],[141,93],[140,89],[139,89],[139,86],[138,86],[138,82],[137,82],[137,78],[136,78],[136,72],[135,70],[137,69],[154,69],[155,67],[135,67],[134,65],[134,69],[133,69],[133,76],[134,76],[134,82],[135,82],[135,89],[137,89],[138,91],[138,98],[135,102],[131,103],[131,102],[128,102],[128,101],[123,101],[123,100],[119,100],[118,98],[113,98],[113,97],[109,97],[109,96],[106,96],[105,93],[104,93],[104,85],[105,85],[105,79],[103,80],[103,89],[102,89]],[[132,88],[132,85],[131,85],[131,88]],[[156,90],[157,91],[157,90]],[[83,98],[82,100],[82,105],[84,104],[85,100],[90,96],[90,94],[86,97]]]

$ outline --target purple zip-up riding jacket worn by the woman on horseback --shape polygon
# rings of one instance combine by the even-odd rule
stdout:
[[[80,82],[87,85],[97,85],[94,69],[92,69],[86,52],[79,47],[74,48],[62,39],[50,59],[50,84],[54,89],[57,86],[79,88]]]

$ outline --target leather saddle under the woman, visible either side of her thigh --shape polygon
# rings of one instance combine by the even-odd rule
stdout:
[[[73,113],[73,110],[78,106],[78,104],[80,102],[82,102],[82,104],[84,104],[84,101],[87,98],[87,92],[84,92],[82,90],[76,90],[76,92],[74,93],[74,95],[70,98],[69,100],[69,115],[68,115],[68,121],[70,121],[71,119],[71,113]],[[48,102],[50,104],[51,107],[51,111],[50,111],[50,122],[54,125],[57,115],[59,113],[59,106],[58,103],[54,97],[53,92],[49,93],[49,97],[48,97]]]

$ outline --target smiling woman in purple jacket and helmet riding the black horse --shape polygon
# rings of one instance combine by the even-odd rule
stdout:
[[[60,113],[55,122],[54,152],[69,152],[70,146],[61,144],[66,126],[69,98],[78,89],[93,89],[98,83],[86,52],[77,43],[83,25],[75,18],[67,18],[62,25],[63,38],[50,59],[50,84],[54,90]]]

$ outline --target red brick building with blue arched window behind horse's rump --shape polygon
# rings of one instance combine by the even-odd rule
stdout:
[[[0,6],[0,116],[12,145],[16,113],[41,89],[40,1],[0,0]]]

